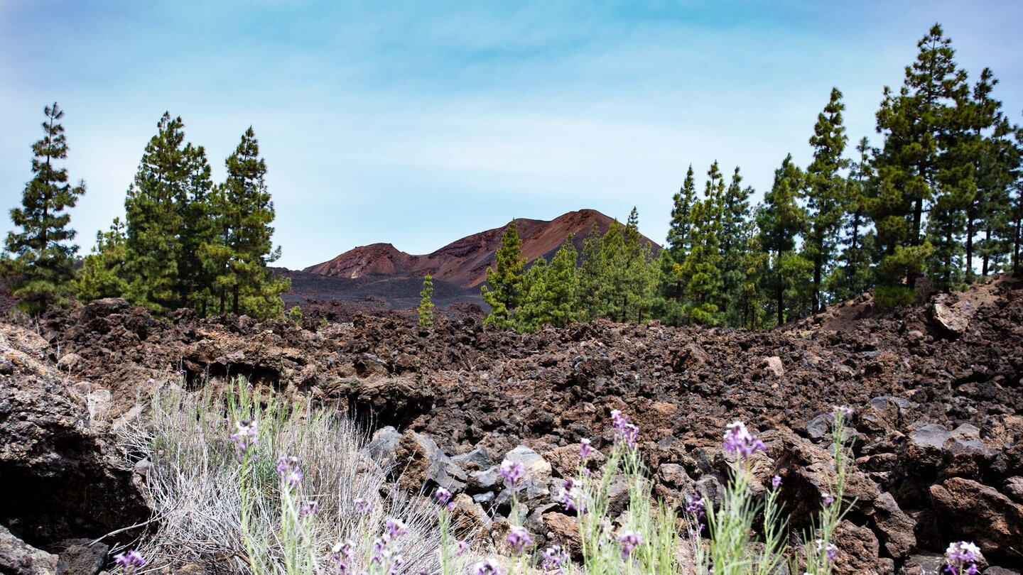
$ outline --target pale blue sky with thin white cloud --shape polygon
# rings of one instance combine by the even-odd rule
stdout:
[[[1023,122],[1021,21],[1018,0],[0,0],[0,208],[20,202],[56,100],[88,188],[71,212],[83,253],[124,214],[165,110],[216,180],[255,129],[288,268],[585,208],[636,207],[661,240],[688,165],[739,166],[759,198],[787,153],[808,164],[833,86],[850,142],[876,144],[882,90],[935,23]]]

